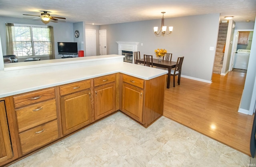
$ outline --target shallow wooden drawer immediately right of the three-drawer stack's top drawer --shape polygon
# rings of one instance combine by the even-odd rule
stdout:
[[[74,93],[80,90],[89,89],[91,87],[91,80],[79,81],[60,86],[60,95]]]

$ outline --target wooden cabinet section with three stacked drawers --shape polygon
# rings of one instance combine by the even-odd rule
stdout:
[[[21,154],[58,139],[55,88],[13,96]]]

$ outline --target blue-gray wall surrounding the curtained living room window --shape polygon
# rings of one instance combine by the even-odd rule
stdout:
[[[74,42],[73,23],[67,23],[67,22],[64,22],[63,20],[59,20],[59,22],[57,23],[49,22],[48,24],[44,24],[41,20],[35,20],[32,18],[22,19],[22,18],[0,17],[0,36],[1,36],[1,42],[2,42],[3,55],[6,55],[5,23],[14,23],[14,24],[16,23],[16,24],[53,26],[55,58],[60,58],[61,55],[58,55],[57,42]]]

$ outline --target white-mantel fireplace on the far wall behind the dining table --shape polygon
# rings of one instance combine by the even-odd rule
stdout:
[[[124,62],[134,63],[133,52],[137,52],[139,42],[116,42],[118,54],[124,55]]]

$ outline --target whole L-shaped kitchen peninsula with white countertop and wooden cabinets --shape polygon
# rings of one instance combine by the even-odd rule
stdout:
[[[126,63],[123,58],[104,55],[5,64],[0,71],[4,132],[0,166],[116,111],[144,127],[161,117],[167,71]]]

